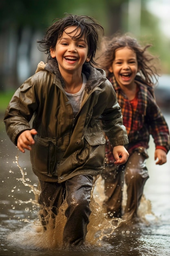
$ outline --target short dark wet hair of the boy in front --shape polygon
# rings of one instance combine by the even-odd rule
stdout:
[[[38,41],[38,43],[40,43],[39,49],[48,54],[49,58],[51,58],[50,49],[55,48],[57,40],[60,40],[64,30],[71,26],[77,27],[74,31],[80,28],[80,33],[73,39],[79,39],[85,35],[85,40],[88,44],[88,58],[90,59],[90,63],[96,64],[93,58],[99,46],[99,38],[100,36],[104,36],[104,28],[99,25],[94,18],[89,16],[66,14],[64,18],[57,19],[57,21],[47,29],[44,38]]]

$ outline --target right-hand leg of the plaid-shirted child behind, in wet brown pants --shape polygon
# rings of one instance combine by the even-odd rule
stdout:
[[[135,150],[128,158],[125,169],[125,182],[127,185],[127,203],[124,211],[124,219],[130,220],[137,217],[137,210],[143,194],[144,185],[148,179],[146,159],[148,155],[144,148]]]

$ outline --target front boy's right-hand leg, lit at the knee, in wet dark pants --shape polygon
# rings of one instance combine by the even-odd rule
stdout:
[[[93,176],[76,175],[66,180],[67,217],[63,232],[63,244],[81,245],[84,243],[89,216],[91,214],[90,200],[93,187]]]

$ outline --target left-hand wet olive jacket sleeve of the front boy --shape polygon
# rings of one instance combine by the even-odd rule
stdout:
[[[4,115],[7,135],[15,145],[17,136],[31,129],[29,121],[38,106],[34,85],[32,76],[16,90]]]

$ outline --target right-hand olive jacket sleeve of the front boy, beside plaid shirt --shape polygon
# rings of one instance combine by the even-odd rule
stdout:
[[[113,147],[128,144],[128,135],[123,125],[121,108],[117,102],[115,90],[109,81],[106,81],[104,86],[104,93],[99,99],[101,104],[105,103],[104,111],[100,116],[102,128]]]

